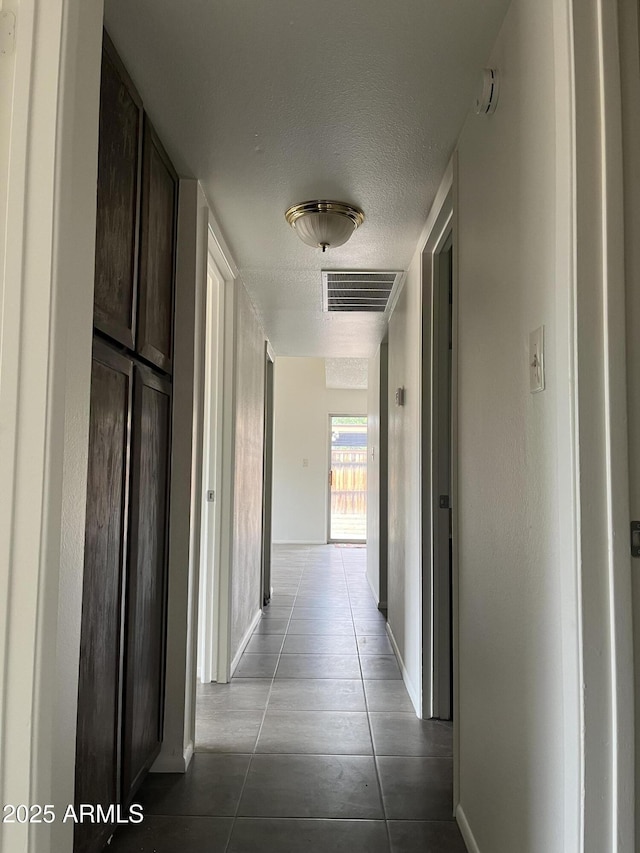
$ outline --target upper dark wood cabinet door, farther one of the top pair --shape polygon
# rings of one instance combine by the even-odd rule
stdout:
[[[145,118],[136,351],[171,372],[178,177]]]

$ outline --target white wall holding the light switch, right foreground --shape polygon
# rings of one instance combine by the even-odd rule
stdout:
[[[563,649],[572,384],[556,205],[570,163],[556,154],[554,35],[552,0],[514,0],[489,60],[497,112],[471,115],[458,146],[460,805],[483,853],[581,849],[565,837],[579,768],[564,723],[577,731],[579,713]],[[538,326],[546,388],[531,394]]]

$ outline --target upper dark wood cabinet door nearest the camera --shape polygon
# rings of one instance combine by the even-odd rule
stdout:
[[[135,341],[142,102],[105,33],[100,137],[94,324],[124,346]]]

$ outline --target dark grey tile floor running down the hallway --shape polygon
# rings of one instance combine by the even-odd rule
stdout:
[[[147,778],[109,853],[464,853],[451,727],[415,716],[365,562],[274,547],[233,680],[198,688],[188,773]]]

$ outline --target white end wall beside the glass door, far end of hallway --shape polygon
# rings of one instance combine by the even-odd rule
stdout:
[[[276,358],[274,383],[273,541],[321,544],[329,415],[366,415],[367,392],[327,389],[323,358]]]

